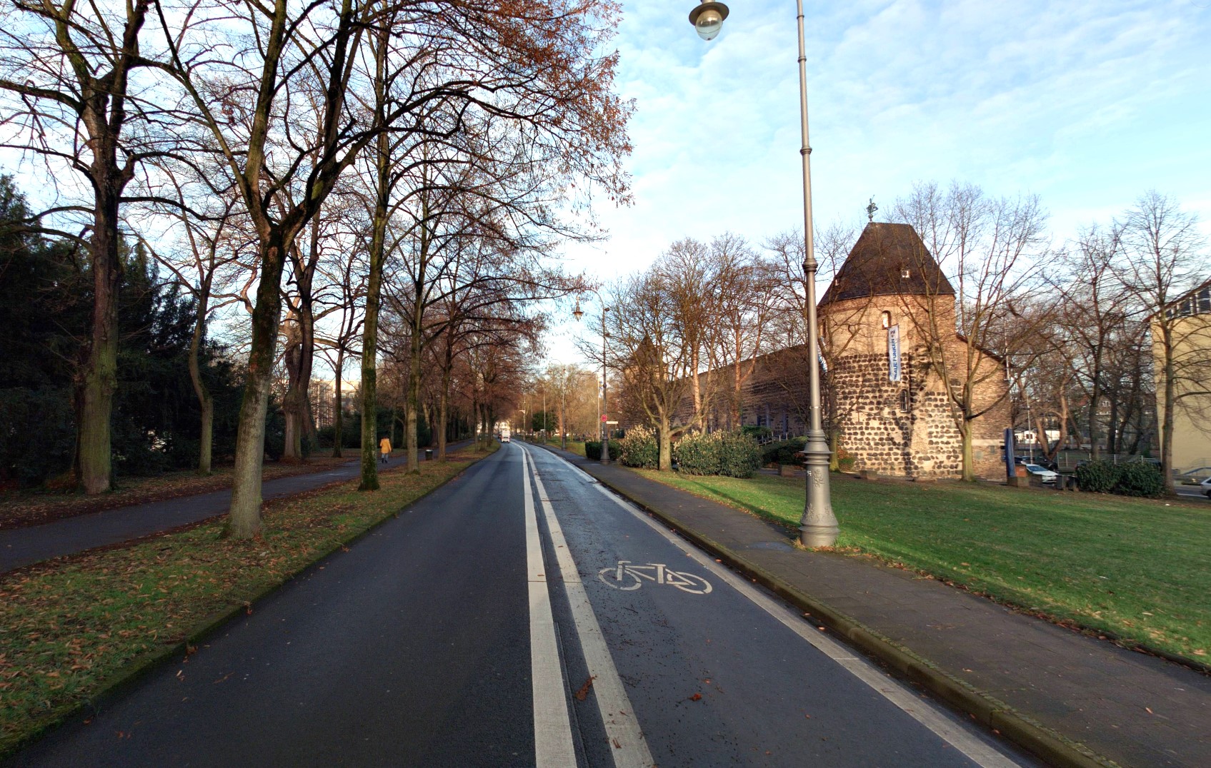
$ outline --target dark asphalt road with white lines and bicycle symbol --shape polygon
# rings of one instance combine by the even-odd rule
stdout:
[[[515,443],[13,762],[1031,764],[1006,755]]]

